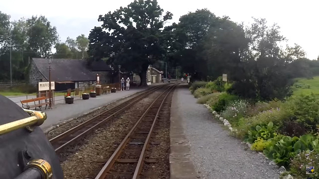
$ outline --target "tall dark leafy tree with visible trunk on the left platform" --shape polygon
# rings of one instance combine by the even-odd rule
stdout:
[[[167,53],[164,23],[172,18],[170,12],[163,15],[157,0],[135,0],[127,7],[100,15],[101,27],[92,29],[89,35],[89,55],[93,60],[110,57],[113,67],[122,65],[141,77],[146,86],[146,72],[150,64]]]

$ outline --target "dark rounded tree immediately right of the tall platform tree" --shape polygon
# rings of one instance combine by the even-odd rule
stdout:
[[[219,21],[219,17],[208,9],[198,9],[181,16],[178,24],[166,28],[171,30],[168,61],[181,66],[181,70],[191,75],[192,79],[206,79],[207,63],[200,53],[209,30],[218,26]]]

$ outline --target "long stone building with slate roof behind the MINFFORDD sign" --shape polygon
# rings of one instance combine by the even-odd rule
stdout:
[[[32,58],[29,71],[29,84],[37,87],[38,82],[49,81],[49,64],[46,59]],[[53,59],[51,63],[51,81],[55,82],[55,91],[84,88],[94,85],[96,74],[103,84],[110,83],[110,67],[104,61],[87,65],[86,60]]]

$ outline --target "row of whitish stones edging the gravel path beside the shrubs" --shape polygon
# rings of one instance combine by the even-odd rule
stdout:
[[[213,114],[217,119],[219,119],[225,126],[227,126],[230,131],[232,131],[232,132],[234,132],[234,133],[237,132],[237,129],[233,129],[233,128],[231,127],[230,122],[229,122],[227,119],[221,117],[221,116],[220,116],[216,111],[214,111],[208,104],[204,104],[204,106],[206,106],[206,107],[209,109],[209,111],[212,111],[212,114]],[[250,144],[250,143],[248,143],[248,142],[242,142],[242,143],[248,145],[249,149],[251,149],[251,144]],[[259,154],[263,155],[267,160],[269,160],[269,159],[265,156],[264,153],[259,152]],[[269,163],[269,165],[276,165],[276,163],[273,162],[273,161],[271,161],[271,162]],[[286,172],[286,169],[285,169],[284,166],[281,166],[281,167],[280,167],[280,173],[283,173],[283,172]],[[291,176],[290,174],[288,174],[287,176],[283,177],[282,179],[294,179],[294,178],[293,178],[293,176]]]

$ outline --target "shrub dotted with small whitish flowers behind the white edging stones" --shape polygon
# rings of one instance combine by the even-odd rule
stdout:
[[[238,120],[245,115],[247,106],[248,103],[245,100],[235,100],[230,102],[220,115],[229,120],[232,124],[236,124]]]

